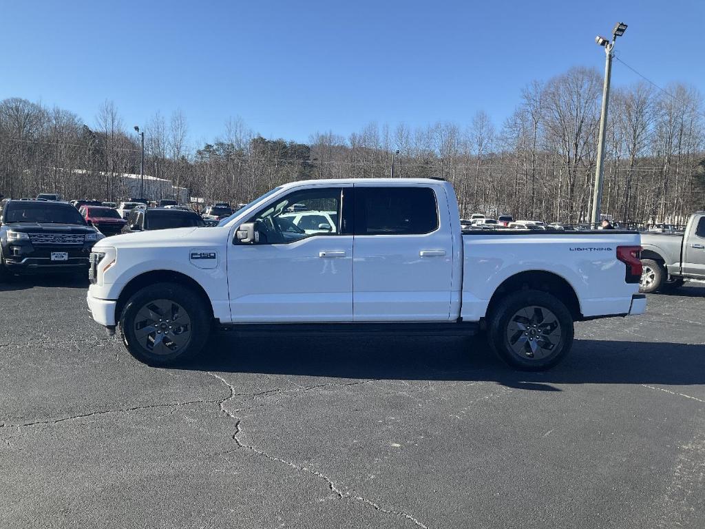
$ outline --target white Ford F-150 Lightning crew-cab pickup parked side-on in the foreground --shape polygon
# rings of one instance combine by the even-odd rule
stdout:
[[[302,229],[288,212],[327,212]],[[333,221],[336,226],[330,226]],[[212,228],[106,238],[87,301],[142,362],[197,355],[240,332],[474,334],[513,367],[544,370],[573,322],[642,314],[639,233],[460,229],[450,183],[288,183]]]

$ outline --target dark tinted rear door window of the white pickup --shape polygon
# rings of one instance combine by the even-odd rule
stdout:
[[[355,235],[422,235],[438,227],[431,188],[355,188]]]

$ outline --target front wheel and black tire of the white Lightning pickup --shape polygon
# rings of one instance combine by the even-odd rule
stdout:
[[[192,289],[158,283],[130,297],[118,327],[131,355],[147,365],[164,367],[183,363],[202,351],[212,317]]]

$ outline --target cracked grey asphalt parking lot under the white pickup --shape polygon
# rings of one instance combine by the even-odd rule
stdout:
[[[480,338],[227,332],[155,369],[86,286],[0,285],[1,527],[703,527],[704,286],[529,375]]]

